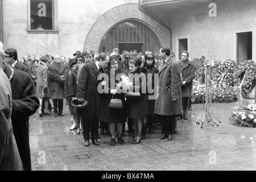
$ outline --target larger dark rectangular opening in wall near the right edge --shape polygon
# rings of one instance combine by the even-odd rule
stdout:
[[[253,32],[237,33],[237,61],[238,63],[252,59]]]

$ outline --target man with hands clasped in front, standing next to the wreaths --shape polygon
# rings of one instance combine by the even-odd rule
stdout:
[[[195,77],[195,64],[188,60],[189,53],[188,51],[183,51],[181,59],[178,61],[180,65],[180,71],[182,73],[183,81],[181,82],[181,95],[182,95],[182,110],[183,110],[183,119],[188,119],[188,104],[189,98],[192,94],[192,84]]]

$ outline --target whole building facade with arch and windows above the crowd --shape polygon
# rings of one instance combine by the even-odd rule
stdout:
[[[119,49],[159,52],[179,59],[255,60],[254,0],[1,0],[0,39],[18,56]]]

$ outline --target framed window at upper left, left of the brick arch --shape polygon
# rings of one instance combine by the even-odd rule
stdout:
[[[56,0],[28,0],[28,29],[29,34],[57,34],[56,30]]]

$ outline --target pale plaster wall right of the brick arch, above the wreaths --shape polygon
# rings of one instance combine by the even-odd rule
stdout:
[[[189,36],[190,57],[204,55],[213,60],[236,60],[236,32],[253,31],[253,59],[256,59],[256,1],[217,0],[217,17],[210,17],[209,3],[176,10],[166,23],[172,30],[172,47],[177,38]],[[167,12],[163,14],[167,15]]]

